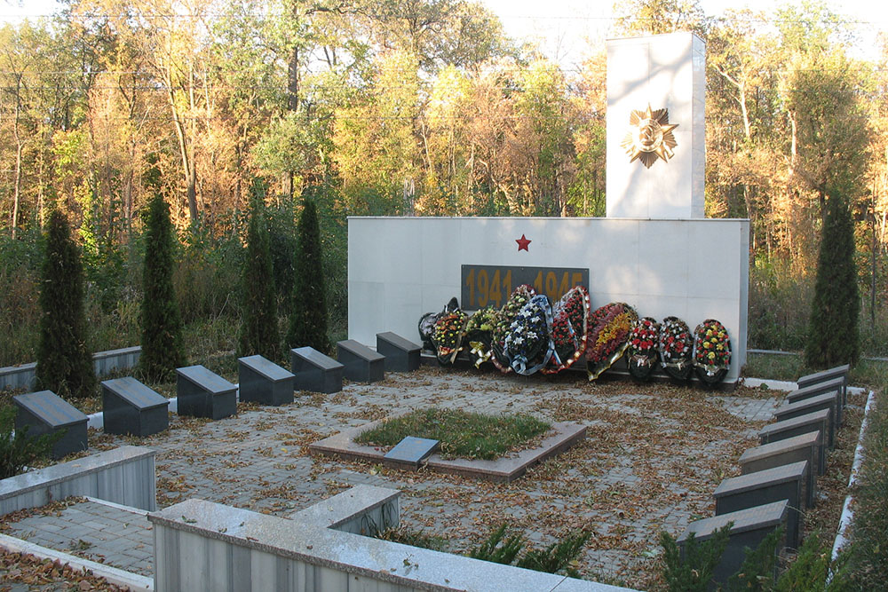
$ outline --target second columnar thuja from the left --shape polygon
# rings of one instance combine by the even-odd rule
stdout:
[[[165,380],[185,365],[182,322],[172,287],[176,237],[170,209],[161,193],[146,210],[145,267],[142,270],[142,354],[139,372],[148,380]]]

